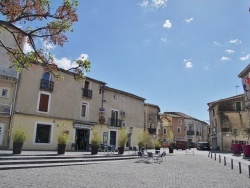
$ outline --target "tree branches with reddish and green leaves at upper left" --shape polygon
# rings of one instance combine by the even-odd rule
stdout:
[[[36,39],[49,42],[53,45],[63,47],[68,41],[66,32],[73,32],[72,25],[78,21],[76,13],[78,0],[58,0],[54,2],[59,5],[51,8],[50,0],[1,0],[0,12],[5,18],[0,20],[0,32],[2,30],[13,36],[16,48],[8,47],[3,40],[0,46],[3,47],[13,62],[12,67],[21,71],[32,65],[41,65],[50,71],[55,77],[61,78],[58,67],[52,55],[46,52],[35,43]],[[53,6],[55,6],[53,4]],[[21,25],[17,27],[17,25]],[[28,43],[32,51],[24,53],[22,44]],[[75,66],[67,71],[74,73],[76,80],[84,78],[84,70],[88,72],[90,61],[76,60]]]

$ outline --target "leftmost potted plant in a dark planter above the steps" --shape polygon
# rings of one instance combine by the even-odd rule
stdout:
[[[27,133],[25,129],[22,126],[13,128],[11,138],[13,141],[13,154],[21,154],[23,143],[27,139]]]

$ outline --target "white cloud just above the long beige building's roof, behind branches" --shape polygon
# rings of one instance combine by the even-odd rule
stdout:
[[[83,59],[83,60],[86,60],[88,59],[88,55],[87,54],[81,54],[76,60],[79,60],[79,59]],[[67,57],[62,57],[61,59],[57,59],[56,57],[54,57],[54,62],[55,64],[57,64],[57,66],[59,68],[62,68],[62,69],[65,69],[65,70],[68,70],[72,67],[76,67],[77,64],[74,61],[68,59]]]

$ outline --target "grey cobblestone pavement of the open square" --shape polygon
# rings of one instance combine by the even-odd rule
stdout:
[[[138,160],[104,162],[82,166],[0,171],[0,187],[167,187],[247,188],[248,172],[231,169],[207,156],[208,152],[186,154],[174,151],[161,164]],[[248,163],[244,164],[244,167]]]

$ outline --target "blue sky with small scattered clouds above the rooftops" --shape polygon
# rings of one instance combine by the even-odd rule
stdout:
[[[249,7],[246,0],[79,0],[69,42],[47,48],[62,68],[84,56],[88,77],[162,113],[207,121],[207,103],[243,93]]]

